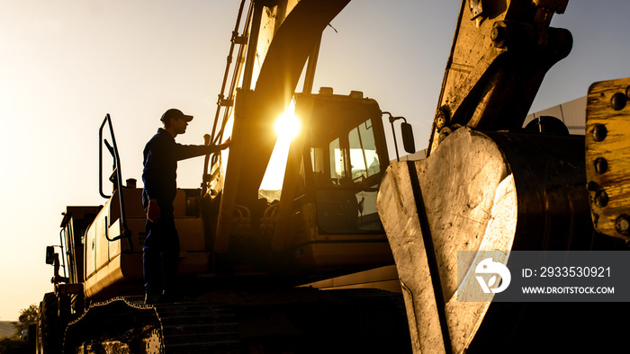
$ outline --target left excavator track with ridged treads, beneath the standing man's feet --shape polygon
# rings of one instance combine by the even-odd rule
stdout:
[[[96,303],[69,323],[65,352],[240,353],[229,305],[197,301],[144,305],[141,296]]]

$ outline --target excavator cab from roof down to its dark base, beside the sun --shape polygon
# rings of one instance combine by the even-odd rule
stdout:
[[[376,211],[390,161],[378,103],[322,88],[296,94],[295,113],[304,128],[289,153],[272,248],[298,268],[391,263]]]

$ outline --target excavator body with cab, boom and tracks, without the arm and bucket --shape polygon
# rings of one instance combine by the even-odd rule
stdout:
[[[40,304],[38,352],[341,352],[386,350],[397,337],[394,348],[409,348],[401,296],[310,285],[392,264],[375,208],[390,161],[383,111],[358,91],[311,93],[322,31],[346,4],[240,3],[204,137],[232,143],[227,154],[205,157],[201,188],[177,190],[174,202],[182,301],[141,300],[142,190],[123,181],[105,116],[106,202],[67,207],[61,254],[47,248],[55,290]],[[294,93],[304,69],[302,93]],[[261,190],[267,173],[278,174],[267,166],[283,148],[276,119],[293,115],[302,129],[284,146],[282,189]],[[103,187],[107,152],[111,193]]]

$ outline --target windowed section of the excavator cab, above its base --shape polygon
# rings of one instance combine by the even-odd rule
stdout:
[[[382,232],[376,193],[388,157],[383,127],[374,121],[381,119],[378,106],[372,101],[318,100],[304,155],[311,160],[306,168],[320,233]]]

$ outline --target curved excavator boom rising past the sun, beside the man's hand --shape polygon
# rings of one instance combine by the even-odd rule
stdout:
[[[348,2],[301,1],[286,15],[282,26],[276,27],[277,30],[267,34],[266,38],[257,39],[258,43],[270,44],[265,50],[256,88],[249,91],[244,87],[237,95],[232,128],[234,143],[230,147],[226,183],[222,190],[215,252],[228,251],[235,205],[256,203],[260,182],[276,141],[271,133],[275,119],[289,106],[303,67],[312,50],[319,45],[321,32]],[[255,3],[255,18],[264,11],[263,3]],[[247,173],[241,173],[245,168]]]

